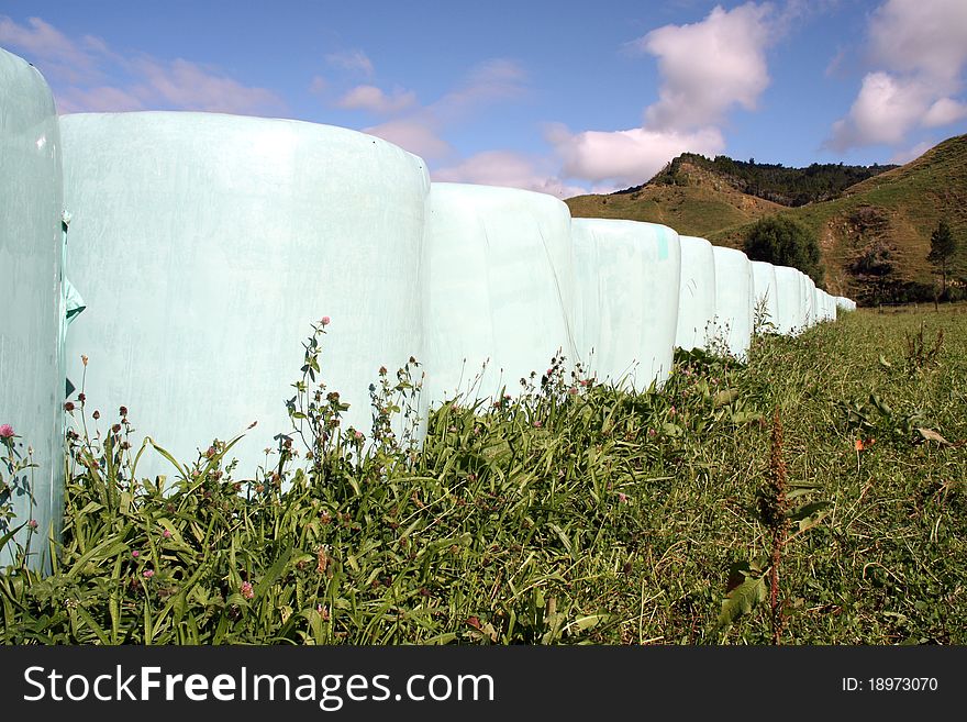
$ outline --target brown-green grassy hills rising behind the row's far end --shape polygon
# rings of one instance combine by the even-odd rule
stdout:
[[[780,166],[744,168],[749,164],[732,163],[741,173],[723,173],[730,164],[722,156],[708,160],[686,154],[644,186],[566,202],[576,218],[664,223],[681,234],[729,246],[740,246],[747,226],[763,215],[791,215],[818,234],[826,290],[866,303],[931,296],[933,277],[926,255],[930,234],[942,219],[962,240],[962,256],[967,255],[967,135],[944,141],[900,167],[815,166],[819,193],[833,192],[830,189],[836,182],[866,177],[836,190],[834,198],[799,207],[743,192],[743,174],[773,168],[781,182],[757,181],[757,190],[775,198],[782,198],[775,191],[782,184],[794,188],[808,182],[783,175]],[[820,173],[821,168],[825,170]],[[749,177],[762,180],[769,173]]]

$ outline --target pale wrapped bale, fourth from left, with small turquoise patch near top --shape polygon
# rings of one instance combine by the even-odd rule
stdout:
[[[600,219],[571,221],[575,342],[599,380],[660,386],[671,370],[681,253],[665,225]]]

